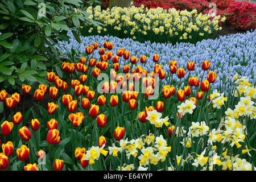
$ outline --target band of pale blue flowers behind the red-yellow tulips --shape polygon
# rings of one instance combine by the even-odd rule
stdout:
[[[229,36],[221,36],[220,39],[203,40],[196,45],[189,43],[180,44],[160,44],[160,43],[139,43],[131,39],[119,39],[112,36],[89,36],[81,37],[81,44],[77,43],[75,38],[72,37],[71,43],[60,42],[59,46],[67,48],[67,51],[63,51],[64,55],[71,52],[71,49],[77,50],[77,56],[84,56],[84,49],[86,45],[90,44],[93,39],[99,44],[103,44],[105,40],[109,40],[116,45],[112,52],[113,55],[123,47],[127,51],[131,52],[131,56],[141,57],[141,55],[147,56],[147,60],[152,60],[155,54],[160,56],[159,63],[162,64],[162,68],[167,72],[169,76],[171,60],[175,60],[178,63],[178,68],[186,68],[187,61],[195,62],[195,71],[191,72],[191,76],[201,77],[200,65],[203,60],[208,60],[212,63],[211,67],[218,77],[216,82],[212,85],[213,89],[223,87],[222,84],[227,83],[226,88],[229,87],[229,77],[236,74],[249,77],[249,82],[256,82],[256,69],[255,69],[255,34],[254,32],[247,32],[246,34],[235,34]],[[71,35],[72,36],[72,35]],[[67,57],[68,58],[68,57]],[[98,59],[98,56],[94,55],[94,59]],[[123,68],[125,63],[122,61],[119,65],[120,69]],[[154,69],[154,63],[152,61],[146,61],[145,64],[138,63],[143,69],[148,72]],[[135,69],[134,65],[131,65],[131,69]],[[186,73],[184,80],[188,78]],[[204,75],[204,79],[207,75]],[[174,81],[178,81],[177,75],[173,77]],[[170,82],[163,80],[163,84],[169,84]],[[181,87],[184,85],[182,84]],[[224,88],[223,88],[224,89]]]

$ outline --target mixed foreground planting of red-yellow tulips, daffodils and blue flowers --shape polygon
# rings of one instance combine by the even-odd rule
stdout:
[[[63,52],[71,56],[61,65],[62,77],[48,72],[47,85],[1,90],[11,114],[1,120],[0,169],[254,170],[254,35],[173,47],[101,36],[81,38],[84,46],[73,39],[60,43],[71,52]],[[228,42],[243,50],[241,59]],[[245,70],[236,69],[242,63]],[[111,79],[100,86],[103,93],[100,73]],[[20,111],[20,94],[23,100],[32,94],[39,113],[34,107]]]

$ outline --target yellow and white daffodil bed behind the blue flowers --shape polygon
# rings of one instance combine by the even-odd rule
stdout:
[[[78,10],[80,11],[80,10]],[[221,30],[219,22],[225,18],[197,14],[193,11],[169,11],[144,9],[131,6],[129,8],[113,7],[112,10],[101,10],[100,6],[88,7],[89,18],[103,24],[91,26],[86,23],[81,28],[81,35],[114,35],[118,38],[131,38],[138,42],[196,43],[203,39],[215,38]]]

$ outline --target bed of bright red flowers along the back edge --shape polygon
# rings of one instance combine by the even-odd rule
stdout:
[[[163,9],[175,8],[177,10],[191,11],[196,9],[199,13],[208,14],[212,7],[210,3],[216,4],[217,15],[226,16],[227,22],[242,30],[255,29],[256,6],[253,3],[239,2],[234,0],[168,0],[168,1],[151,1],[151,0],[135,0],[135,6],[142,4],[148,8],[162,7]]]

